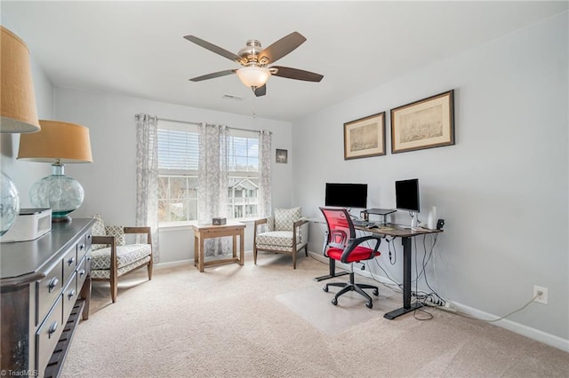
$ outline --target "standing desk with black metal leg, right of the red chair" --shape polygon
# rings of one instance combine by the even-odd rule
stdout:
[[[443,230],[410,229],[404,228],[397,224],[386,224],[375,228],[365,228],[358,226],[355,228],[359,231],[401,238],[401,243],[403,244],[403,307],[394,311],[389,311],[383,315],[383,318],[389,320],[396,319],[401,315],[405,315],[407,312],[420,308],[420,303],[411,304],[411,254],[413,249],[411,240],[418,235],[443,232]]]

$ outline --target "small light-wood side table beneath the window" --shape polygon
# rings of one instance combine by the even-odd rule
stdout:
[[[244,229],[245,225],[234,222],[223,225],[194,224],[194,266],[204,272],[204,266],[238,263],[244,264]],[[204,262],[204,240],[233,236],[233,257]],[[239,257],[237,257],[237,236],[239,237]]]

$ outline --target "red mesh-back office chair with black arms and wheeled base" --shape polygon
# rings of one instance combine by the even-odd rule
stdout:
[[[380,248],[381,237],[367,235],[356,238],[356,230],[347,209],[320,208],[320,211],[324,214],[326,224],[328,224],[328,241],[324,255],[344,264],[350,264],[349,282],[331,282],[326,284],[323,290],[328,292],[328,287],[330,286],[342,287],[332,300],[334,305],[338,304],[340,295],[349,291],[356,291],[367,299],[365,305],[371,309],[373,307],[372,297],[365,293],[363,289],[373,288],[373,295],[376,296],[380,294],[380,291],[376,286],[354,282],[354,263],[380,256],[381,253],[378,248]],[[375,241],[375,248],[372,249],[360,245],[368,240]]]

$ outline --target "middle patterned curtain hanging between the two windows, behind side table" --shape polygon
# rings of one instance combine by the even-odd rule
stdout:
[[[201,123],[199,130],[197,222],[228,217],[228,127]],[[204,240],[205,256],[231,254],[227,238]]]

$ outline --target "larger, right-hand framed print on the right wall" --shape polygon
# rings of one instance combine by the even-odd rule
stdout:
[[[454,145],[454,91],[391,109],[391,153]]]

